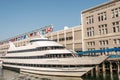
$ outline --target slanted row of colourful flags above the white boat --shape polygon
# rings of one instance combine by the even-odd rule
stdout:
[[[6,44],[10,42],[15,42],[15,41],[20,41],[20,40],[24,40],[30,37],[35,37],[35,36],[41,36],[41,35],[45,35],[48,34],[50,32],[53,32],[53,25],[49,25],[49,26],[45,26],[43,28],[19,35],[17,37],[13,37],[4,41],[0,42],[0,45]]]

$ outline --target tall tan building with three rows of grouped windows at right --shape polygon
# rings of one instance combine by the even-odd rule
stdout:
[[[84,10],[81,18],[84,51],[120,47],[120,0]]]

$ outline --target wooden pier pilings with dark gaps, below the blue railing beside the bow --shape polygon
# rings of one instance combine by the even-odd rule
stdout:
[[[82,77],[96,77],[101,80],[120,80],[120,59],[109,58],[103,63],[97,65],[94,69],[92,69]]]

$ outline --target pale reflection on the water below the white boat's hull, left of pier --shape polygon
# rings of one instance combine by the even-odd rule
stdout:
[[[57,77],[35,74],[19,74],[10,70],[0,69],[0,80],[83,80],[80,77]]]

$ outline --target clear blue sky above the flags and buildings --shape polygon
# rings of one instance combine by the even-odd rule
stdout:
[[[81,24],[81,11],[109,0],[0,0],[0,40],[52,24],[54,31]]]

